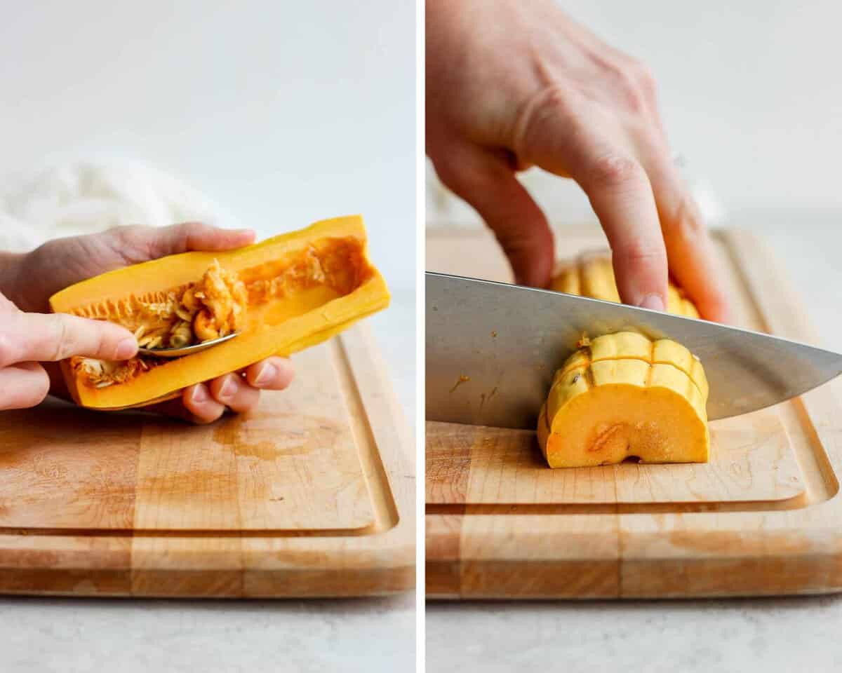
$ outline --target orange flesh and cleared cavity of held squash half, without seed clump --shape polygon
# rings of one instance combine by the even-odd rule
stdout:
[[[215,260],[248,289],[238,336],[182,358],[152,358],[147,370],[102,388],[66,360],[62,372],[78,404],[125,409],[170,399],[189,385],[323,342],[389,304],[368,257],[365,225],[354,215],[231,252],[185,252],[103,273],[54,294],[51,309],[119,323],[132,300],[195,284]]]

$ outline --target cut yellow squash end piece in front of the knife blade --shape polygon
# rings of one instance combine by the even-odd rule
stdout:
[[[551,468],[704,463],[710,452],[707,381],[687,350],[636,332],[597,337],[553,379],[538,418],[538,442]],[[688,371],[689,369],[689,371]]]

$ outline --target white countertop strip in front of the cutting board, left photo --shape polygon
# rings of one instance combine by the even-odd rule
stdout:
[[[5,673],[412,670],[412,596],[348,601],[0,601]]]

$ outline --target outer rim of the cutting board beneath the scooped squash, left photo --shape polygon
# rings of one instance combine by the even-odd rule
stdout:
[[[379,458],[376,474],[366,476],[386,480],[380,495],[370,495],[393,500],[386,529],[333,538],[0,534],[0,594],[315,598],[413,591],[408,428],[368,327],[357,324],[336,338],[353,351],[349,367]]]

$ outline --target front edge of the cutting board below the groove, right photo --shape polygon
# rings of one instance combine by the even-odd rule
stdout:
[[[589,541],[595,548],[609,548],[609,554],[593,559],[581,554],[555,554],[564,548],[569,534],[556,523],[554,530],[541,533],[543,554],[534,559],[495,558],[486,552],[493,548],[513,548],[519,531],[538,534],[536,525],[525,521],[530,515],[488,516],[479,536],[466,534],[463,524],[471,515],[430,514],[426,536],[426,592],[428,598],[686,598],[705,596],[773,596],[788,594],[832,594],[842,592],[842,496],[836,495],[816,508],[829,509],[836,527],[825,525],[805,530],[803,517],[788,517],[788,525],[767,527],[758,522],[746,534],[733,521],[733,528],[713,533],[704,529],[679,531],[677,541],[664,544],[664,530],[687,515],[672,515],[662,522],[663,529],[651,527],[652,515],[555,515],[597,517],[604,522],[616,519],[616,528],[594,533]],[[757,513],[766,517],[775,512]],[[791,511],[786,512],[791,515]],[[740,517],[732,512],[725,517]],[[693,517],[722,517],[696,513]],[[434,519],[447,519],[447,533],[429,533]],[[548,517],[551,518],[551,517]],[[491,521],[494,520],[494,521]],[[649,520],[649,521],[647,521]],[[634,524],[647,522],[648,532],[634,530]],[[545,519],[546,523],[546,519]],[[692,523],[692,522],[691,522]],[[509,525],[510,524],[510,525]],[[632,524],[629,526],[629,524]],[[548,526],[549,527],[549,526]],[[440,526],[439,526],[440,528]],[[493,532],[489,532],[491,529]],[[672,534],[676,533],[673,529]],[[669,535],[667,536],[669,537]],[[719,538],[717,540],[717,537]],[[513,539],[514,538],[514,539]],[[594,542],[595,541],[595,542]],[[477,549],[466,553],[465,549]],[[716,548],[696,557],[688,548]],[[770,553],[771,551],[771,553]],[[547,571],[552,574],[547,576]],[[594,571],[600,575],[594,580]],[[512,584],[505,587],[505,579]]]

